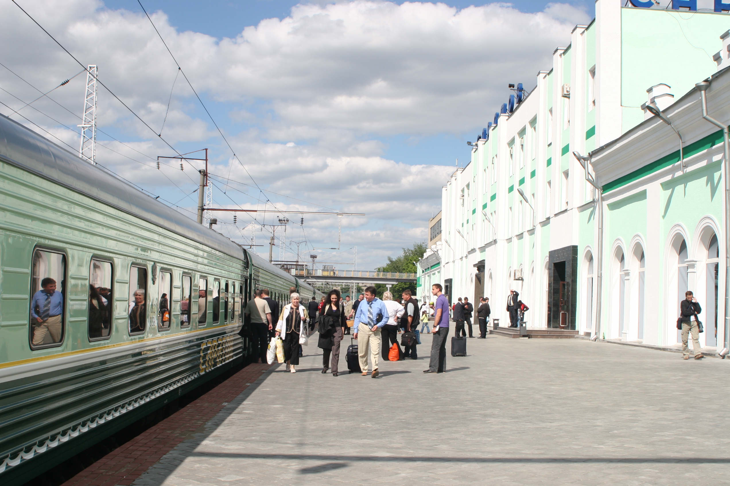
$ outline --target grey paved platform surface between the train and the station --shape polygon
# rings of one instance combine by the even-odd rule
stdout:
[[[134,485],[685,485],[730,479],[730,360],[470,339],[424,375],[272,367]],[[317,354],[315,354],[317,353]],[[342,361],[345,351],[342,350]]]

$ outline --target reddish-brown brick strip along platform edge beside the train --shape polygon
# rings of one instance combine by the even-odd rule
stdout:
[[[131,485],[150,466],[215,417],[269,367],[269,364],[249,364],[199,399],[97,460],[62,486]]]

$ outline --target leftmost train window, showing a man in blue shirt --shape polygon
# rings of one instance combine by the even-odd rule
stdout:
[[[60,346],[64,340],[66,255],[36,250],[31,281],[31,348]]]

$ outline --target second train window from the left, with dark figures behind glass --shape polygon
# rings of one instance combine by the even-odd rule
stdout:
[[[91,259],[89,270],[89,325],[90,341],[102,340],[112,334],[114,298],[112,292],[112,264]]]

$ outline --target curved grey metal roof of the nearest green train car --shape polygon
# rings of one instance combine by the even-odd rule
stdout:
[[[243,258],[243,248],[237,243],[1,114],[0,159],[185,238]]]

